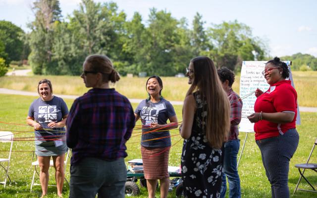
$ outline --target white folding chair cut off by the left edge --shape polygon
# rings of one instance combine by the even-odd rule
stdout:
[[[0,142],[2,143],[11,143],[10,145],[10,150],[9,150],[9,156],[8,158],[0,158],[0,166],[4,169],[5,171],[5,179],[3,182],[0,182],[1,184],[4,184],[4,188],[6,186],[6,179],[8,178],[9,181],[11,182],[11,179],[9,177],[9,165],[10,165],[10,158],[11,158],[11,152],[12,152],[12,145],[13,145],[13,134],[9,131],[1,131],[0,132]],[[2,162],[7,162],[6,168],[2,164]]]

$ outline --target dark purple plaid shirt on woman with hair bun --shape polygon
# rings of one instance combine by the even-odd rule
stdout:
[[[130,101],[114,89],[91,89],[75,99],[66,120],[71,164],[85,157],[115,160],[126,157],[135,116]]]

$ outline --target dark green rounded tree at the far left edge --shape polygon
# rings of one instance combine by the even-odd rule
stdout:
[[[6,64],[9,64],[11,60],[21,60],[23,51],[23,30],[11,23],[10,21],[0,21],[0,41],[4,44]]]

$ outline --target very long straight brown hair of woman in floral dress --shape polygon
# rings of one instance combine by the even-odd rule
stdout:
[[[212,148],[221,148],[230,130],[229,100],[212,60],[198,56],[191,62],[194,66],[194,81],[186,96],[197,90],[207,100],[206,137]]]

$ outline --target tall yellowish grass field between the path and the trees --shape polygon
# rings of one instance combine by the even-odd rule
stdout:
[[[295,89],[300,106],[317,107],[317,71],[293,71]],[[63,95],[83,95],[87,88],[79,76],[4,76],[0,77],[0,87],[14,90],[36,92],[37,83],[47,78],[53,83],[53,92]],[[145,84],[147,78],[122,77],[113,87],[128,98],[144,99],[147,97]],[[162,77],[162,95],[168,100],[184,100],[189,88],[187,78]],[[233,90],[239,93],[240,76],[236,76]]]

